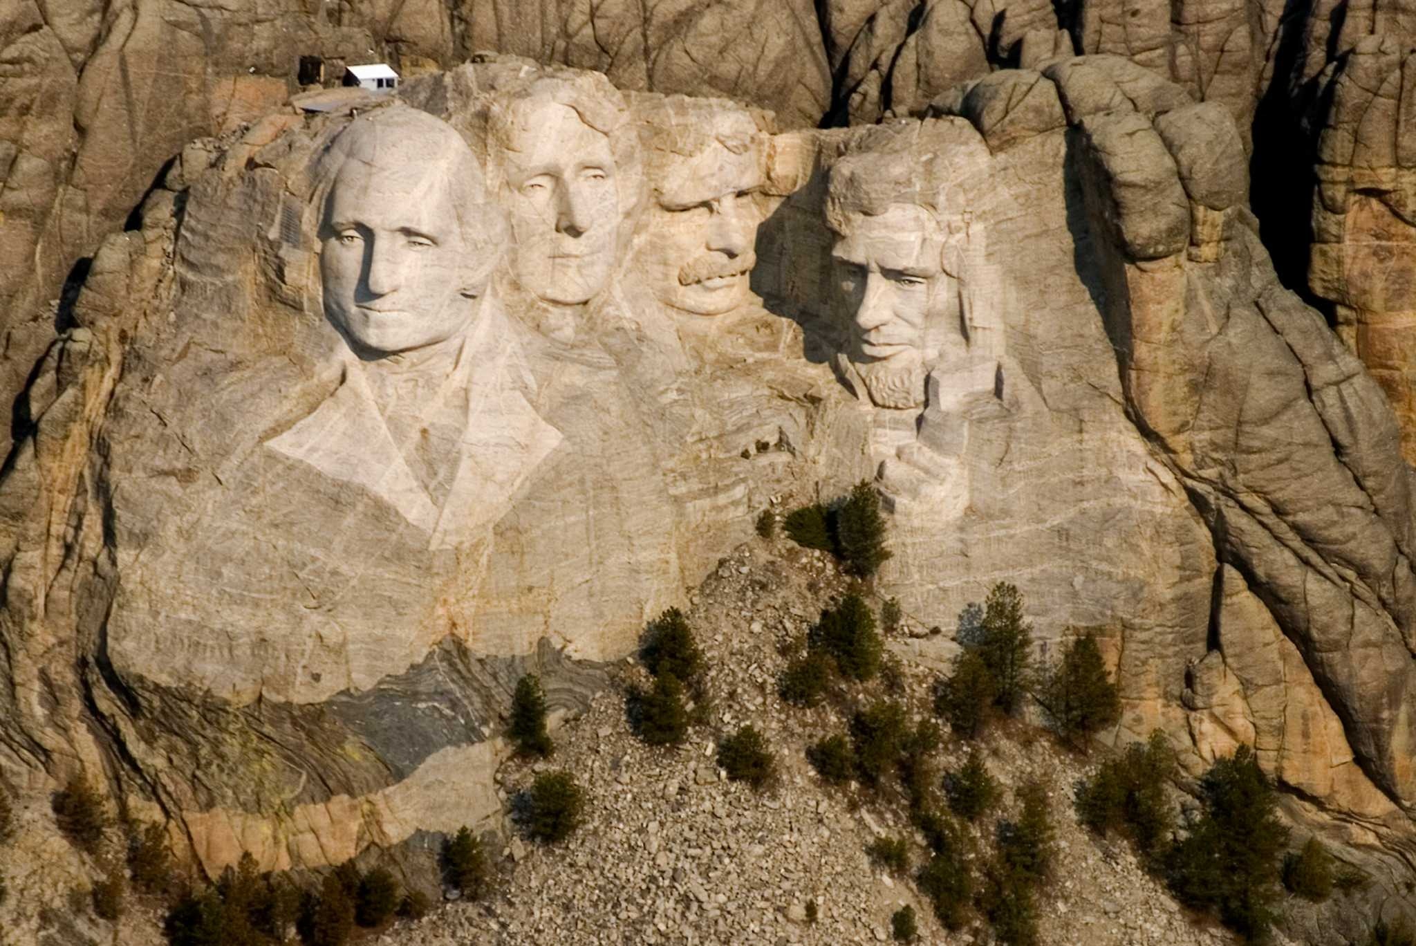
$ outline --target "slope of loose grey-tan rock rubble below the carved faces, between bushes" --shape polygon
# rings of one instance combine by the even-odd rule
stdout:
[[[830,701],[804,711],[776,695],[786,666],[782,646],[803,634],[841,591],[823,552],[784,540],[736,549],[691,596],[690,622],[708,667],[709,724],[695,726],[678,749],[656,749],[632,734],[622,694],[600,694],[555,734],[551,762],[513,760],[497,777],[498,790],[511,797],[537,770],[573,772],[589,793],[583,827],[561,847],[513,834],[501,851],[504,878],[496,895],[450,904],[378,942],[872,943],[889,939],[891,915],[903,904],[919,915],[920,942],[993,942],[981,921],[943,930],[910,881],[871,864],[865,847],[889,834],[913,840],[913,870],[923,857],[922,838],[891,790],[875,797],[833,790],[806,763],[804,748],[844,725]],[[933,671],[908,663],[898,668],[901,688],[892,695],[922,718]],[[634,660],[620,677],[624,684],[646,678]],[[777,753],[777,783],[762,793],[728,782],[715,765],[715,738],[748,722]],[[1045,943],[1232,942],[1178,906],[1121,843],[1100,841],[1076,823],[1070,790],[1087,768],[1083,759],[1022,725],[995,732],[986,745],[987,765],[1004,787],[1031,776],[1051,785],[1056,879],[1039,898]],[[946,739],[939,765],[957,766],[966,755]],[[995,816],[1011,811],[1007,794]],[[994,817],[970,830],[987,850]]]

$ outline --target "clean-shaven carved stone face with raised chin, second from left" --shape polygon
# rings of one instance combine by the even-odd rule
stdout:
[[[511,268],[545,302],[588,302],[609,280],[620,224],[606,135],[551,101],[517,108],[504,156]]]

